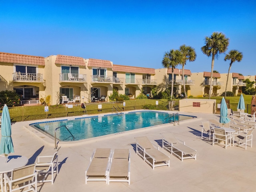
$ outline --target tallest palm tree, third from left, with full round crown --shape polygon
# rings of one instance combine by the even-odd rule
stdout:
[[[229,38],[226,38],[226,35],[219,32],[213,32],[210,37],[205,37],[205,46],[201,47],[203,54],[206,54],[208,57],[212,56],[212,70],[211,70],[211,79],[210,79],[210,92],[209,99],[212,94],[212,74],[214,67],[214,58],[218,58],[218,55],[226,52],[228,49]]]

